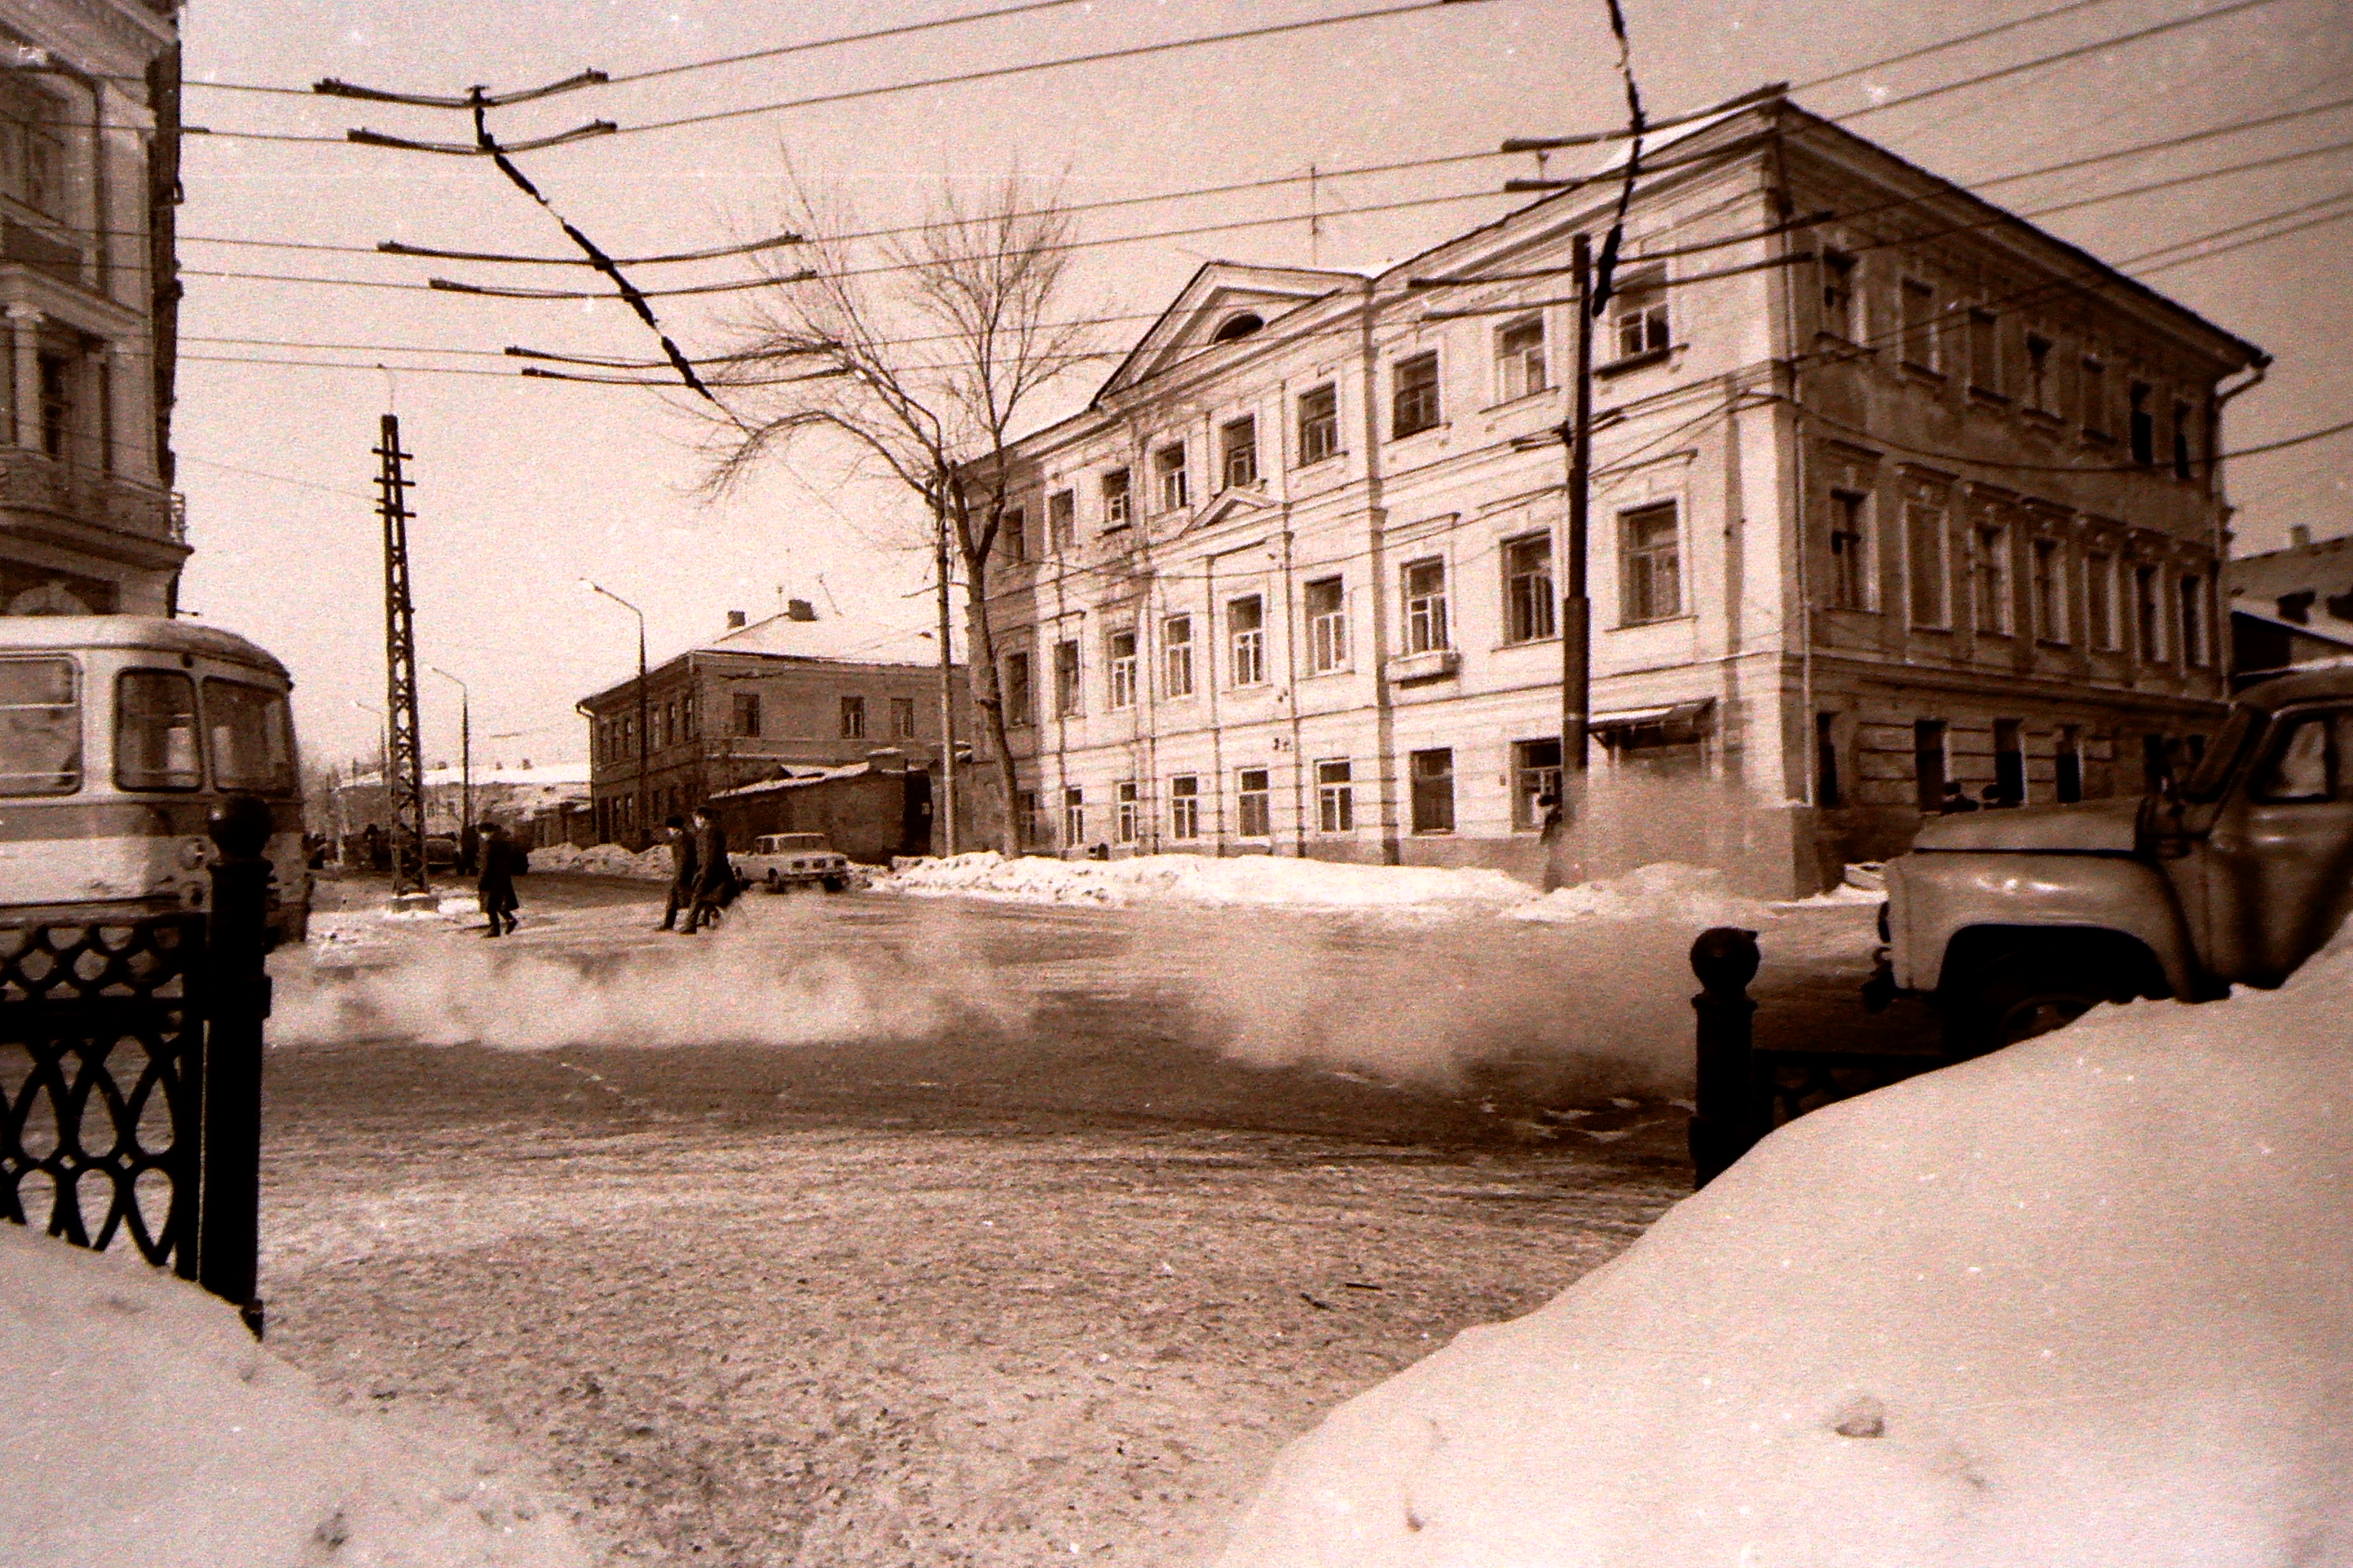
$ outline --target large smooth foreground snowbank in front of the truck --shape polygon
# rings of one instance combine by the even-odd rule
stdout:
[[[1235,1568],[2353,1561],[2353,947],[1819,1110],[1280,1460]]]

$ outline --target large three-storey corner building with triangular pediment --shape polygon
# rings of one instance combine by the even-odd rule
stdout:
[[[1812,891],[1948,783],[2137,792],[2224,689],[2219,386],[2261,350],[1769,99],[1645,143],[1595,322],[1584,872]],[[1019,444],[998,574],[1040,849],[1541,877],[1572,235],[1205,266]]]

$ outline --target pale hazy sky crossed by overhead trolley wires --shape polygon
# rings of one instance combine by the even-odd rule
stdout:
[[[296,677],[313,762],[372,757],[384,705],[376,421],[400,416],[414,454],[412,571],[426,762],[456,759],[459,686],[475,762],[579,759],[574,703],[635,670],[635,621],[586,592],[591,578],[645,611],[652,661],[713,637],[732,609],[786,597],[887,630],[929,623],[929,557],[911,498],[826,451],[760,470],[722,501],[701,491],[708,456],[689,400],[661,388],[567,386],[515,374],[508,346],[638,357],[647,331],[616,301],[508,301],[428,277],[581,289],[584,268],[504,268],[374,254],[381,240],[447,249],[572,254],[551,214],[478,158],[344,141],[351,127],[464,141],[464,115],[329,99],[339,78],[398,92],[520,89],[586,68],[614,78],[899,24],[1005,9],[1009,0],[191,0],[181,207],[179,487],[195,555],[181,602],[273,649]],[[979,82],[880,92],[1016,63],[1207,38],[1414,0],[1092,0],[1035,7],[906,38],[802,49],[614,82],[501,110],[506,139],[588,120],[621,134],[534,153],[522,167],[555,209],[612,254],[729,244],[781,226],[786,167],[861,221],[922,216],[944,181],[1019,172],[1071,202],[1160,195],[1452,153],[1506,136],[1602,129],[1624,96],[1602,0],[1461,0],[1398,16],[1059,66]],[[1626,0],[1633,68],[1654,115],[1762,82],[1809,82],[2064,0],[1969,7],[1929,0]],[[2061,16],[1927,54],[1795,99],[1849,113],[2017,61],[2240,0],[2082,0]],[[207,85],[214,82],[214,85]],[[2132,148],[2353,92],[2353,0],[2259,0],[2228,16],[1892,106],[1849,122],[1960,183]],[[673,129],[656,120],[769,108]],[[318,136],[273,141],[264,132]],[[2339,146],[2344,143],[2344,146]],[[2054,214],[2045,226],[2122,261],[2188,235],[2353,195],[2353,106],[2005,183],[2012,212],[2181,174],[2327,148],[2313,158]],[[1579,167],[1560,155],[1553,172]],[[1151,315],[1209,256],[1358,263],[1419,252],[1527,197],[1501,181],[1532,160],[1431,169],[1122,207],[1080,219],[1073,263],[1085,315]],[[1329,216],[1337,207],[1414,202]],[[2322,209],[2318,216],[2353,207]],[[1221,233],[1219,223],[1252,223]],[[2148,282],[2275,355],[2231,404],[2228,447],[2353,418],[2341,350],[2353,221],[2320,223]],[[271,244],[254,244],[271,242]],[[355,249],[285,249],[355,247]],[[242,277],[240,277],[242,273]],[[254,277],[266,275],[266,277]],[[635,268],[640,287],[748,277],[741,259]],[[689,355],[725,350],[741,296],[656,299]],[[1144,320],[1104,327],[1120,350]],[[1108,360],[1104,364],[1108,374]],[[1040,416],[1085,402],[1078,376]],[[2228,465],[2240,552],[2278,548],[2289,524],[2353,529],[2353,437]]]

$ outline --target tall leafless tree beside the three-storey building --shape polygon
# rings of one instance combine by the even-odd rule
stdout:
[[[1002,849],[1019,851],[1014,759],[988,616],[1014,475],[1007,447],[1040,395],[1096,360],[1064,306],[1071,214],[1024,200],[1019,174],[984,197],[944,181],[920,226],[859,237],[856,214],[793,176],[791,228],[807,247],[765,261],[736,341],[706,378],[720,388],[706,489],[722,494],[807,437],[847,437],[922,501],[965,574],[965,672],[988,726]],[[840,447],[835,447],[840,451]]]

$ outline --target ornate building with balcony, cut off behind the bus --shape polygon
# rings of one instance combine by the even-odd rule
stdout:
[[[174,607],[174,9],[0,0],[0,614]]]

